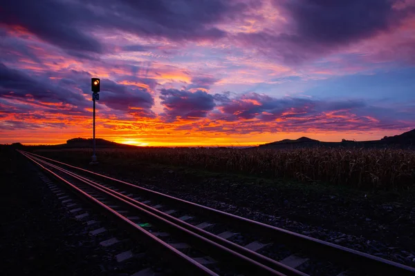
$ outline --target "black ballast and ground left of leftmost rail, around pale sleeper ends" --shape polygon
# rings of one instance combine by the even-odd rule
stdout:
[[[1,148],[0,162],[1,275],[174,274],[89,204],[55,181],[50,184],[48,175],[14,149]],[[77,218],[85,212],[87,217]],[[107,230],[92,235],[99,228]],[[100,246],[111,238],[121,242]],[[118,262],[129,250],[133,258]]]

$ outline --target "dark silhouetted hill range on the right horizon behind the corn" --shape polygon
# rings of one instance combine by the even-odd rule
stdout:
[[[380,140],[372,141],[354,141],[342,139],[340,142],[324,142],[308,137],[301,137],[295,140],[284,139],[281,141],[259,145],[258,148],[309,148],[313,146],[358,146],[367,148],[391,146],[396,148],[415,148],[415,129],[404,132],[400,135],[384,137]]]

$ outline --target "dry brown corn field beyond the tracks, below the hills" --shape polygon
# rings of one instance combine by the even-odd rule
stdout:
[[[67,150],[65,155],[89,157],[90,153],[91,150],[74,149]],[[409,190],[415,186],[414,150],[137,148],[99,149],[98,157],[362,189]]]

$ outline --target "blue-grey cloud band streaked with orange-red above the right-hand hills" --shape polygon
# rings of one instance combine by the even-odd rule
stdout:
[[[244,121],[244,124],[248,126],[255,124],[259,132],[268,131],[266,129],[270,126],[288,131],[288,126],[293,125],[297,125],[295,128],[313,127],[331,130],[335,128],[393,128],[398,124],[409,127],[409,124],[403,123],[402,119],[405,118],[407,121],[415,119],[415,115],[408,110],[398,112],[391,108],[377,108],[356,100],[323,101],[287,97],[276,99],[257,93],[239,95],[232,99],[224,95],[220,97],[216,95],[215,98],[221,102],[217,106],[220,112],[210,113],[212,119],[224,122]],[[269,124],[270,122],[274,124]],[[224,129],[223,126],[219,128]],[[218,130],[218,128],[211,128],[211,130]]]

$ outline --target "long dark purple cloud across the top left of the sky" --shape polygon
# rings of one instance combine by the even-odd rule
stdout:
[[[218,39],[225,32],[214,23],[246,10],[232,1],[10,1],[0,9],[0,24],[24,28],[40,39],[89,58],[83,52],[102,53],[104,29],[173,40]],[[127,46],[125,50],[142,50]]]

